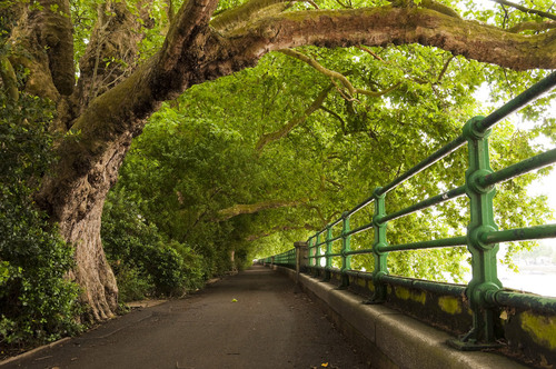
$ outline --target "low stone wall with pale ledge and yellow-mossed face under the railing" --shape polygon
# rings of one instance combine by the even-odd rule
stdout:
[[[271,268],[296,280],[295,270]],[[500,309],[499,329],[506,333],[509,345],[495,352],[459,351],[446,342],[470,328],[471,316],[463,296],[389,285],[386,303],[365,305],[374,291],[368,276],[350,276],[348,289],[338,289],[337,271],[331,272],[328,282],[324,282],[322,277],[321,270],[300,275],[300,288],[327,312],[346,338],[367,355],[373,368],[517,369],[549,368],[554,363],[550,360],[556,352],[556,325],[552,316],[530,311],[509,313]]]

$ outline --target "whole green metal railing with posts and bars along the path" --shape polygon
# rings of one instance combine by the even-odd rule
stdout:
[[[324,277],[325,280],[327,280],[330,278],[330,272],[332,270],[332,258],[341,258],[341,268],[339,270],[341,273],[340,287],[347,287],[349,283],[348,277],[354,272],[350,270],[351,257],[363,253],[373,255],[375,267],[371,278],[375,286],[375,295],[370,302],[379,303],[385,301],[386,298],[386,282],[391,282],[396,279],[401,280],[400,278],[388,276],[388,252],[467,246],[471,253],[473,278],[467,285],[467,288],[465,288],[465,293],[473,311],[473,328],[467,335],[453,342],[454,346],[460,349],[495,346],[494,313],[496,307],[537,306],[543,309],[556,311],[556,299],[504,291],[502,282],[497,277],[496,262],[498,242],[554,238],[556,237],[556,225],[500,231],[495,223],[493,209],[496,183],[556,162],[556,149],[543,152],[498,171],[493,171],[490,168],[488,152],[488,136],[490,134],[490,128],[508,114],[530,103],[543,93],[550,91],[555,86],[556,72],[553,72],[502,108],[492,112],[489,116],[470,119],[464,126],[463,133],[455,140],[424,159],[390,183],[376,188],[373,196],[365,199],[351,210],[344,212],[340,219],[329,223],[325,229],[308,239],[309,267],[312,269],[324,269]],[[466,143],[468,147],[468,169],[465,173],[465,186],[430,197],[396,212],[386,212],[386,195],[389,191],[435,162],[446,158]],[[388,245],[386,229],[388,221],[437,206],[464,195],[469,198],[470,213],[470,221],[467,226],[465,236],[413,243]],[[350,229],[350,217],[371,203],[374,203],[373,221],[356,229]],[[339,223],[342,225],[341,232],[339,236],[332,237],[331,230]],[[373,247],[363,250],[351,250],[350,238],[354,235],[370,229],[374,230],[375,236]],[[341,250],[339,252],[332,252],[332,243],[340,240]],[[321,253],[322,247],[325,248],[325,253]],[[289,252],[295,252],[295,249],[276,256],[275,263],[294,266],[296,260],[295,255],[291,256]],[[321,267],[322,259],[325,260],[324,267]],[[456,287],[453,285],[440,285],[428,281],[424,281],[424,283],[427,285],[428,288],[445,290],[447,293],[451,293],[453,289]],[[460,290],[460,288],[458,290]]]

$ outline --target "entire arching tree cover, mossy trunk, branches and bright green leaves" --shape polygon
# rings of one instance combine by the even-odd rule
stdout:
[[[115,271],[131,282],[150,276],[149,288],[175,295],[172,286],[196,288],[232,267],[232,251],[241,263],[321,228],[459,134],[485,109],[476,97],[481,87],[499,102],[555,69],[553,7],[4,0],[2,101],[37,96],[54,107],[44,124],[54,141],[44,150],[58,160],[31,174],[39,184],[28,198],[72,248],[69,277],[81,287],[85,317],[115,313]],[[497,128],[495,164],[530,156],[538,134],[554,140],[548,100],[523,112],[537,121],[533,130],[512,121]],[[449,188],[448,178],[461,182],[464,166],[450,158],[405,184],[393,203]],[[533,201],[502,225],[550,216],[542,199],[527,198],[533,178],[502,187],[500,208]],[[455,203],[444,216],[393,222],[389,235],[441,236],[466,216]],[[466,253],[450,252],[448,271],[457,278]],[[181,272],[149,269],[146,256]],[[445,278],[435,259],[417,258],[396,259],[393,270]],[[0,261],[0,270],[16,262],[6,250]]]

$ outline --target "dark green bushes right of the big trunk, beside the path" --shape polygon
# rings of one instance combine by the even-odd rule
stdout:
[[[118,191],[110,192],[105,206],[102,242],[118,280],[120,301],[176,297],[202,286],[201,257],[169,241]]]

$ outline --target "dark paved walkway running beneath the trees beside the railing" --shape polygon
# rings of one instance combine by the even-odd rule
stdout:
[[[325,367],[368,366],[287,277],[254,266],[199,293],[135,310],[2,369]]]

